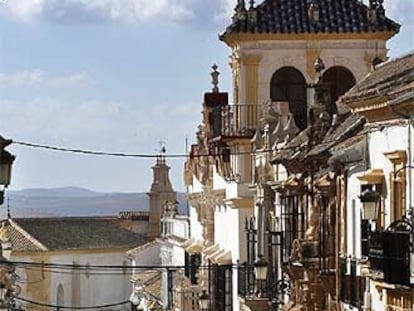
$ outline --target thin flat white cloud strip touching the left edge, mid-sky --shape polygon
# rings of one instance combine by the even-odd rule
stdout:
[[[52,76],[38,69],[9,74],[0,72],[0,84],[3,85],[91,86],[95,83],[96,82],[84,72],[62,76]]]

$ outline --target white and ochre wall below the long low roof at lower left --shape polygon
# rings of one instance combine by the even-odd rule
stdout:
[[[45,263],[54,263],[54,264],[73,264],[74,262],[81,266],[86,265],[115,265],[123,266],[129,265],[127,261],[126,250],[117,250],[113,252],[102,251],[84,253],[83,252],[70,252],[70,253],[59,253],[54,252],[50,254],[50,257],[45,260]],[[14,254],[11,258],[12,261],[20,262],[42,262],[42,257],[34,256],[23,256]],[[34,269],[34,270],[33,270]],[[22,288],[22,292],[19,295],[22,298],[29,300],[34,300],[40,303],[46,304],[57,304],[57,290],[59,284],[62,284],[64,289],[64,303],[65,306],[72,306],[72,284],[74,281],[73,272],[74,270],[65,270],[65,269],[53,269],[54,272],[51,272],[51,269],[48,267],[44,268],[44,276],[46,279],[50,277],[50,284],[47,287],[48,293],[44,293],[44,297],[49,297],[39,301],[39,297],[33,295],[32,292],[28,292],[28,284],[36,284],[41,288],[45,286],[47,282],[42,277],[42,272],[34,267],[22,267],[17,268],[16,272],[21,277],[21,283],[19,285]],[[108,272],[108,271],[107,271]],[[127,269],[117,269],[113,270],[116,275],[103,275],[98,274],[98,271],[93,269],[82,270],[80,271],[80,306],[89,307],[89,306],[99,306],[105,304],[112,304],[116,302],[121,302],[129,299],[130,294],[130,271]],[[49,294],[49,295],[48,295]],[[117,309],[129,310],[129,305],[123,305],[117,307]]]

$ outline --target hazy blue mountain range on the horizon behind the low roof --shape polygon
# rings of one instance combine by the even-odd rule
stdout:
[[[148,211],[146,193],[100,193],[78,187],[7,191],[12,217],[115,216],[121,211]],[[187,214],[184,193],[177,193],[180,214]],[[0,217],[7,215],[7,200]]]

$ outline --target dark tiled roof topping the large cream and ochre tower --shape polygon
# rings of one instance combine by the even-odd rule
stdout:
[[[308,14],[311,2],[319,9],[317,21],[313,21]],[[233,23],[227,27],[222,38],[230,33],[311,34],[399,31],[400,25],[385,16],[382,6],[378,9],[376,21],[368,19],[367,10],[368,7],[360,0],[265,0],[254,9],[246,8],[237,12],[236,8]]]

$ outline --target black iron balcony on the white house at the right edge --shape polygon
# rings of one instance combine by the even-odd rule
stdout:
[[[371,270],[383,272],[384,282],[410,286],[410,231],[371,232],[368,259]]]

